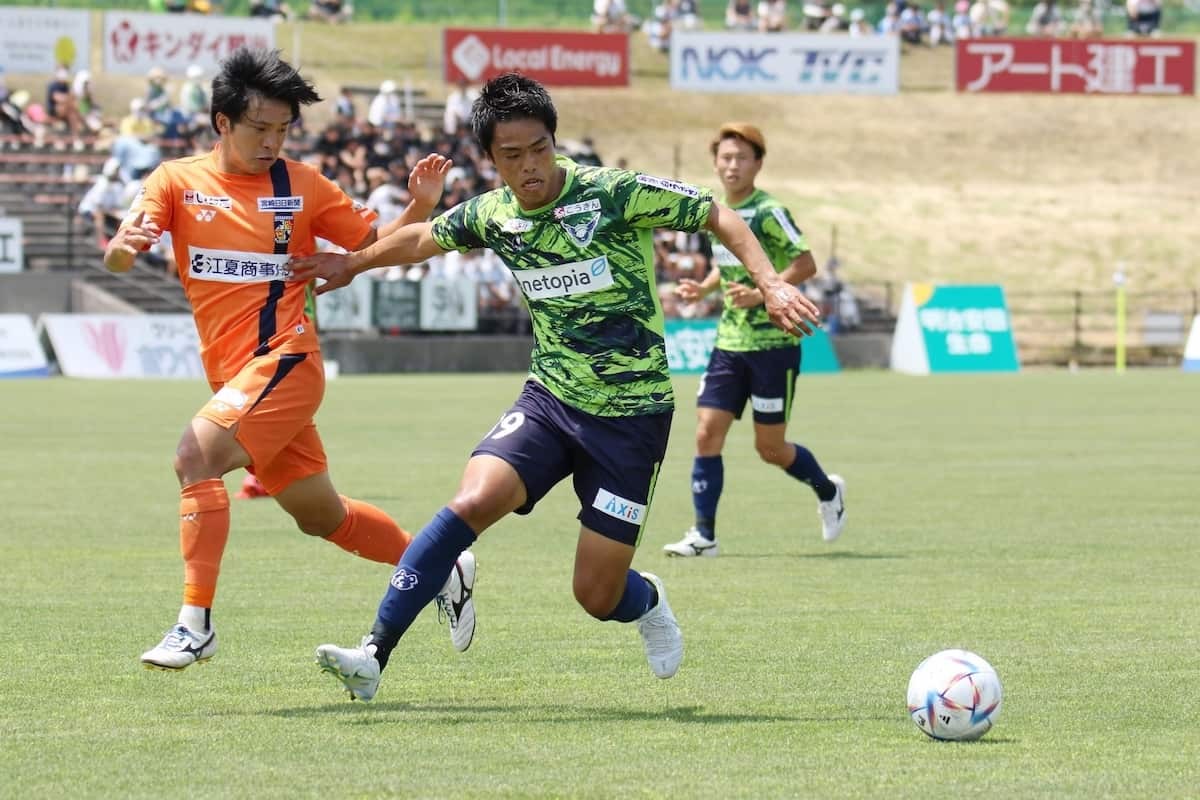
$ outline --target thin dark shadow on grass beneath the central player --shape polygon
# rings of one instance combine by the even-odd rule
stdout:
[[[575,708],[558,705],[455,705],[438,703],[346,703],[313,705],[294,709],[250,711],[254,715],[283,718],[323,717],[329,715],[353,717],[355,724],[395,724],[397,715],[438,723],[520,722],[570,723],[580,722],[678,722],[686,724],[763,724],[776,722],[866,722],[888,721],[892,716],[799,716],[792,714],[728,714],[706,712],[702,705],[664,709]]]

